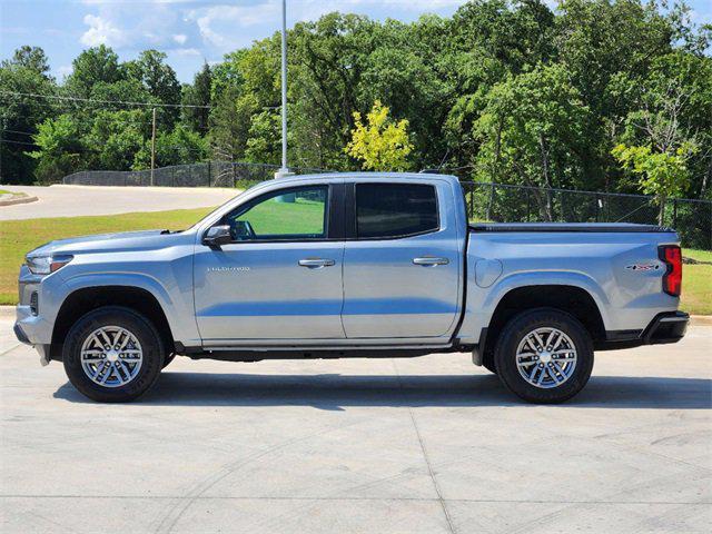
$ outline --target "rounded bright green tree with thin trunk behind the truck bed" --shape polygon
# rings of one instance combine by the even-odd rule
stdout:
[[[479,178],[537,187],[571,187],[581,176],[589,108],[563,66],[537,66],[510,76],[486,96],[474,135],[481,140]],[[542,216],[553,220],[548,194],[536,196]]]

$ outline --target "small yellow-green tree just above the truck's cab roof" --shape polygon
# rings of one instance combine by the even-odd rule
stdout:
[[[408,155],[413,150],[407,132],[408,121],[389,119],[388,108],[380,100],[374,102],[366,121],[364,125],[360,113],[354,111],[355,128],[344,151],[360,160],[362,168],[367,170],[406,170]]]

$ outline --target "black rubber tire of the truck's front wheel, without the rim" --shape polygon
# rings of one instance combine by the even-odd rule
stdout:
[[[107,326],[130,332],[142,350],[141,365],[136,376],[116,387],[97,384],[81,365],[82,344],[93,332]],[[158,330],[149,319],[129,308],[106,306],[89,312],[75,323],[65,339],[62,360],[69,380],[87,397],[100,403],[126,403],[139,397],[156,383],[164,365],[165,349]],[[121,376],[125,378],[125,375]]]

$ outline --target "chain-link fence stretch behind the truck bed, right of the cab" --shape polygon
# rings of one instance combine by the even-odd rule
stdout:
[[[493,222],[637,222],[670,226],[683,246],[712,250],[712,201],[462,182],[471,220]]]

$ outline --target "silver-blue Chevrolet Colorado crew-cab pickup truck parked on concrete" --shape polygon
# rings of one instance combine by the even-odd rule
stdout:
[[[457,178],[297,176],[182,231],[63,239],[27,255],[17,337],[95,400],[131,400],[176,355],[472,353],[525,400],[589,380],[593,352],[674,343],[676,234],[625,224],[468,224]]]

